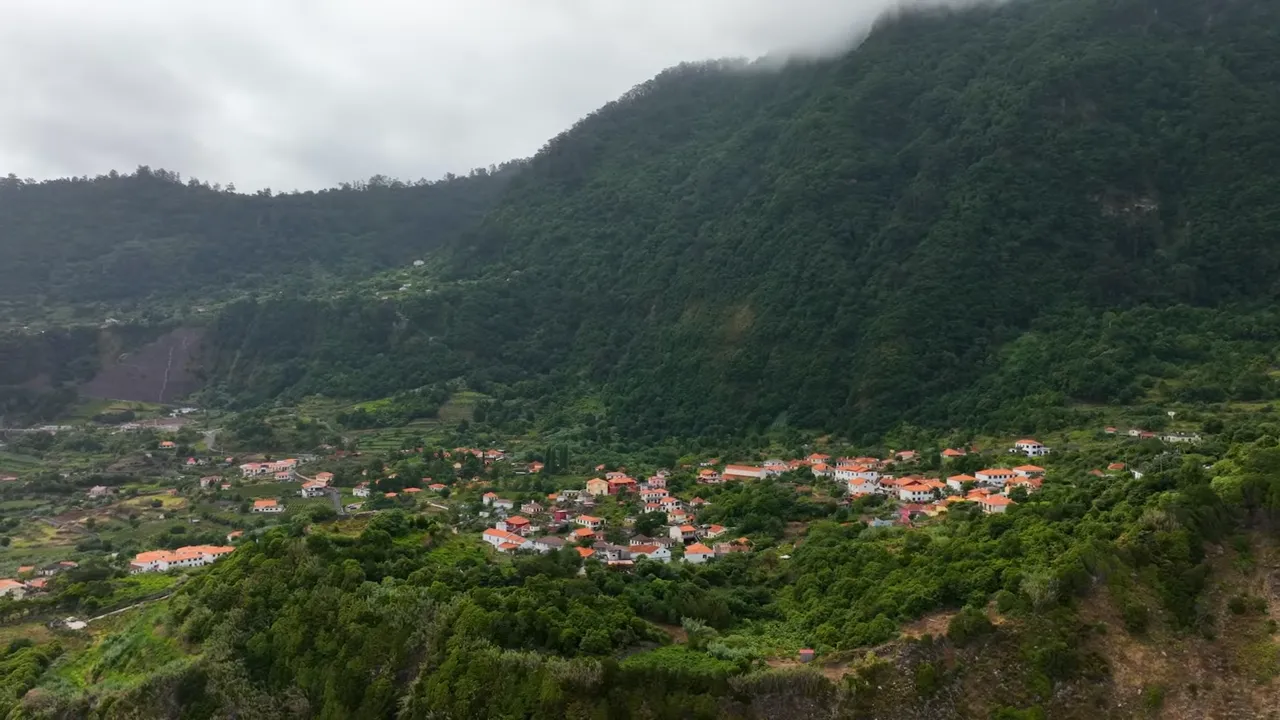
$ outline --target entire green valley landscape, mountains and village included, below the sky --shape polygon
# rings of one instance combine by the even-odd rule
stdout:
[[[0,178],[0,717],[1274,717],[1280,6]]]

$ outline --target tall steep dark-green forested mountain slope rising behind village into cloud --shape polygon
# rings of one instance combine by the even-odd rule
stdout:
[[[453,246],[463,282],[238,307],[214,377],[534,378],[636,437],[1012,423],[1193,366],[1270,395],[1277,49],[1268,3],[1028,0],[823,61],[675,68],[513,179]]]

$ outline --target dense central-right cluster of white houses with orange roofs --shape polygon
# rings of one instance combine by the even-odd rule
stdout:
[[[477,452],[460,448],[463,452]],[[1019,459],[1047,457],[1051,448],[1032,439],[1018,439],[1006,456]],[[490,455],[493,455],[490,452]],[[966,457],[968,450],[941,451],[943,468]],[[1044,482],[1046,469],[1029,462],[1012,466],[992,466],[970,474],[938,473],[927,477],[913,471],[920,456],[914,450],[902,450],[888,457],[838,457],[814,452],[803,459],[765,460],[762,464],[724,464],[708,460],[696,469],[696,486],[677,497],[668,487],[669,470],[637,480],[625,469],[604,473],[586,480],[581,488],[549,493],[545,501],[517,501],[498,492],[484,495],[485,516],[494,518],[483,533],[483,541],[502,553],[553,552],[572,547],[584,559],[599,560],[612,568],[627,568],[641,559],[658,562],[682,561],[703,564],[736,552],[749,552],[753,541],[748,537],[726,539],[731,528],[699,523],[699,511],[709,506],[698,487],[750,483],[780,478],[787,473],[801,473],[815,479],[833,482],[844,493],[842,503],[876,496],[892,509],[876,516],[864,518],[870,527],[911,527],[918,521],[936,518],[956,503],[973,503],[983,514],[1002,514],[1016,505],[1015,497],[1037,492]],[[605,468],[598,466],[602,471]],[[1123,471],[1123,464],[1108,465],[1107,471]],[[536,470],[535,470],[536,471]],[[1102,470],[1094,470],[1102,475]],[[805,488],[808,489],[808,488]],[[622,528],[608,534],[626,536],[625,542],[605,539],[607,521],[593,514],[604,502],[625,507]],[[662,518],[660,532],[648,536],[635,532],[639,518],[657,514]],[[886,518],[884,515],[891,515]]]

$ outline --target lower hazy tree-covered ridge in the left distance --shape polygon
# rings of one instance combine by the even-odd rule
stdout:
[[[0,178],[0,300],[163,304],[374,273],[456,241],[518,167],[282,195],[146,167],[47,182],[9,176]]]

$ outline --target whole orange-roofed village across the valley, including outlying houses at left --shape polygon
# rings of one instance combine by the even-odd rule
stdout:
[[[1115,427],[1106,427],[1100,436],[1199,442],[1194,433],[1165,433],[1165,437]],[[431,515],[454,533],[476,533],[477,542],[497,556],[568,548],[582,560],[599,561],[611,569],[625,570],[641,560],[698,565],[753,552],[767,541],[741,532],[730,521],[705,519],[718,488],[782,479],[794,492],[817,493],[849,509],[851,519],[868,527],[916,527],[959,503],[982,514],[1010,511],[1041,489],[1047,473],[1041,464],[1051,456],[1046,445],[1020,438],[987,452],[973,446],[948,447],[931,462],[915,450],[840,457],[814,451],[786,460],[722,462],[713,457],[640,477],[632,477],[621,465],[598,464],[591,466],[595,474],[573,483],[563,469],[545,475],[541,459],[529,454],[517,457],[498,448],[431,452],[419,446],[370,461],[360,451],[332,446],[285,457],[198,452],[173,439],[159,439],[154,447],[148,457],[177,468],[170,487],[160,489],[159,496],[142,496],[152,500],[140,505],[140,498],[133,497],[136,491],[122,500],[124,488],[96,484],[84,491],[86,511],[93,507],[109,511],[124,505],[133,507],[131,516],[141,511],[152,515],[157,525],[186,516],[188,523],[198,524],[200,534],[193,539],[201,542],[138,548],[131,560],[122,561],[131,575],[211,565],[232,553],[236,544],[274,524],[360,519],[389,510]],[[164,460],[166,454],[169,460]],[[982,464],[974,465],[979,459]],[[448,477],[438,480],[410,474],[424,460]],[[960,465],[977,469],[955,469]],[[1125,464],[1111,462],[1092,474],[1129,471]],[[1140,477],[1137,470],[1132,473]],[[15,484],[18,477],[4,479]],[[547,486],[552,488],[549,492]],[[544,487],[544,492],[531,492],[534,487]],[[174,512],[182,507],[187,509],[186,515]],[[204,509],[198,518],[191,514],[197,507]],[[81,524],[88,516],[86,511],[77,515]],[[294,519],[297,512],[302,515]],[[218,525],[223,527],[221,534],[214,536],[211,530]],[[177,532],[172,524],[164,527]],[[14,577],[0,579],[0,597],[38,596],[52,575],[73,566],[72,560],[38,569],[22,565]]]

